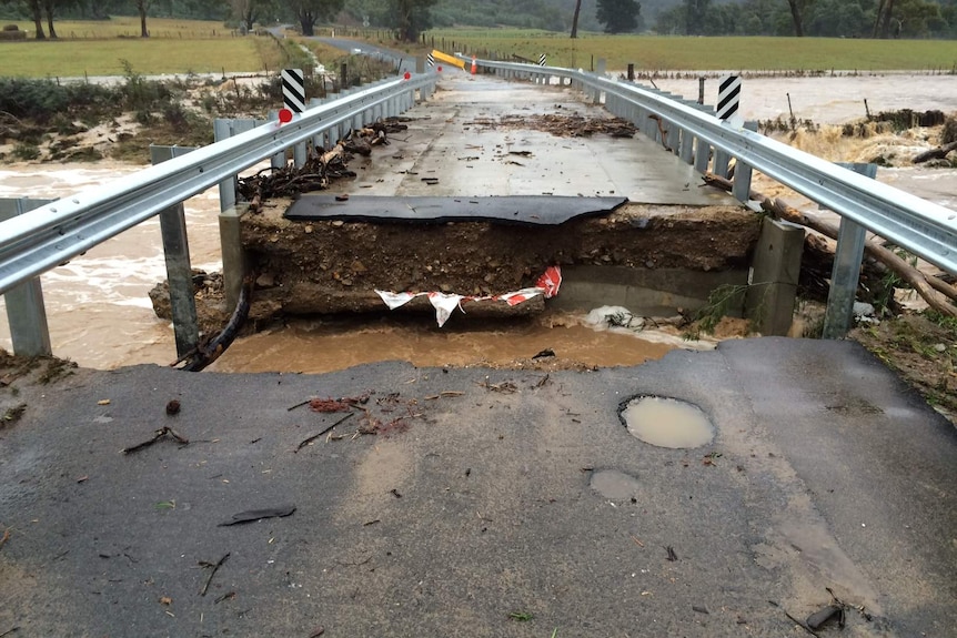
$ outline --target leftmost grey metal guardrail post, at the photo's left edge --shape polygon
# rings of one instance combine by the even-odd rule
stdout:
[[[39,209],[52,201],[0,199],[0,222]],[[10,288],[3,298],[7,305],[10,340],[13,342],[13,354],[20,356],[50,356],[53,354],[40,277],[33,277]]]

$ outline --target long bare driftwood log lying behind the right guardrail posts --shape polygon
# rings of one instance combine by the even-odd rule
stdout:
[[[727,192],[732,190],[732,182],[729,180],[714,173],[706,173],[702,179],[709,186]],[[748,199],[758,202],[764,211],[778,219],[800,224],[833,240],[837,240],[837,226],[824,220],[806,215],[802,211],[787,205],[779,198],[772,199],[757,191],[751,191],[748,192]],[[944,295],[950,301],[957,301],[957,287],[937,277],[925,275],[900,259],[894,251],[873,241],[864,242],[864,251],[909,284],[931,308],[945,316],[957,317],[957,306],[941,298],[941,295]]]

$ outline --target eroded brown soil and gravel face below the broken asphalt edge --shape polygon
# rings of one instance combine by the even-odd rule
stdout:
[[[284,203],[248,214],[255,303],[286,314],[381,310],[375,290],[490,295],[550,265],[708,272],[746,267],[759,217],[733,206],[627,204],[561,225],[292,222]]]

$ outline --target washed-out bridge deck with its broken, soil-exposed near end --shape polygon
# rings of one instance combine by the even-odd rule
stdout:
[[[377,312],[400,294],[403,310],[535,313],[545,294],[508,295],[553,266],[562,283],[547,303],[563,308],[673,315],[747,283],[760,219],[574,91],[459,75],[401,120],[371,146],[350,139],[239,181],[252,205],[238,206],[235,264],[256,275],[253,320]],[[296,192],[304,179],[322,190]],[[788,311],[796,283],[785,282]],[[221,323],[236,295],[205,295],[200,316]],[[169,312],[162,291],[153,298]]]

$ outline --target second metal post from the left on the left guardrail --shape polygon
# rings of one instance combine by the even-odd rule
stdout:
[[[153,164],[172,160],[193,149],[150,145]],[[167,282],[170,285],[170,307],[177,338],[177,356],[184,356],[200,343],[197,322],[197,300],[193,292],[193,272],[190,265],[190,244],[187,239],[187,217],[180,202],[160,213],[160,232],[167,261]]]

